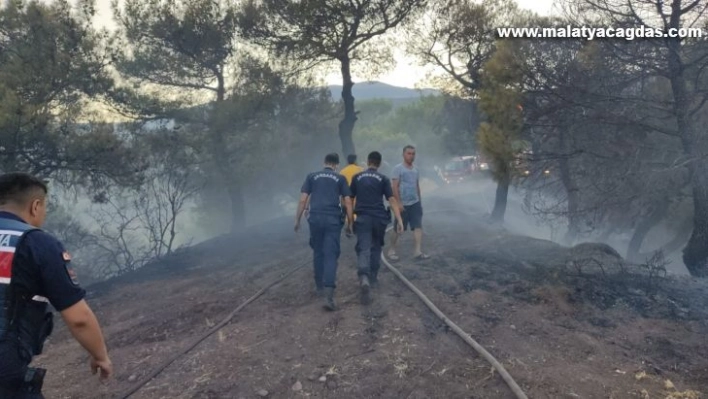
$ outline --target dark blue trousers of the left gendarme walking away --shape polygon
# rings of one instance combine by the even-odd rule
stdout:
[[[314,252],[317,288],[337,287],[337,261],[342,237],[342,218],[337,215],[310,214],[310,247]]]

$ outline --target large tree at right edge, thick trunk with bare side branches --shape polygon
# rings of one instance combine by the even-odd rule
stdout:
[[[693,233],[684,248],[684,263],[695,276],[708,275],[708,148],[707,136],[698,122],[698,116],[705,112],[708,101],[706,73],[708,68],[708,46],[705,38],[678,37],[679,30],[705,28],[708,3],[705,0],[578,0],[580,5],[574,17],[580,23],[588,23],[588,7],[617,26],[646,26],[653,32],[661,32],[659,37],[644,38],[641,45],[646,51],[632,51],[637,43],[605,41],[603,44],[613,51],[636,73],[636,78],[665,82],[670,90],[669,101],[652,104],[653,118],[632,122],[647,126],[667,134],[681,143],[683,164],[689,171],[694,204]],[[673,36],[672,36],[673,35]],[[624,94],[625,101],[642,102],[636,95]],[[663,118],[671,118],[673,128],[660,126]]]

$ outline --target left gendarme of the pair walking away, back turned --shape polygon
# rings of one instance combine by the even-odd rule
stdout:
[[[310,204],[307,221],[310,225],[310,247],[314,252],[315,288],[325,296],[325,308],[336,310],[334,289],[337,281],[337,261],[346,209],[347,235],[352,232],[352,200],[344,176],[337,173],[339,155],[325,157],[324,170],[307,175],[300,190],[300,203],[295,215],[295,231],[300,230],[300,219],[305,205]]]

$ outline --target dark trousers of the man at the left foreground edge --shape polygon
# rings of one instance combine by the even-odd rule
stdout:
[[[23,356],[17,345],[0,342],[0,398],[2,399],[44,399],[41,387],[25,381],[31,369],[31,359]]]

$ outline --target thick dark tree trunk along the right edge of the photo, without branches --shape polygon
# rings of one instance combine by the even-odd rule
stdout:
[[[671,4],[671,16],[667,28],[680,28],[682,2]],[[685,65],[683,64],[681,39],[669,38],[668,70],[671,91],[674,97],[676,126],[681,136],[684,153],[689,157],[688,170],[693,188],[693,232],[688,244],[683,249],[683,263],[693,276],[708,276],[708,165],[702,152],[703,143],[697,129],[692,128],[689,109],[693,101],[686,87]]]

